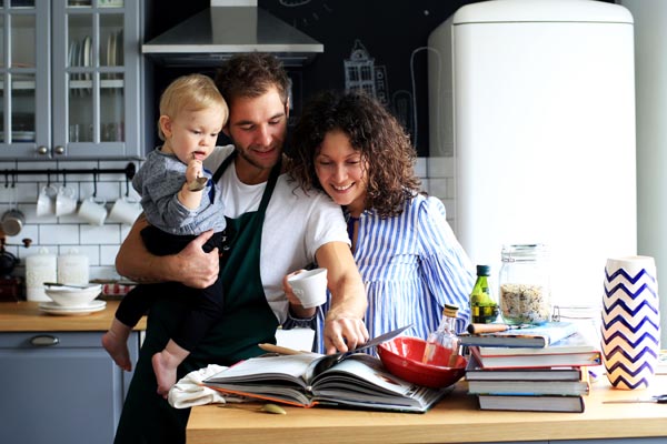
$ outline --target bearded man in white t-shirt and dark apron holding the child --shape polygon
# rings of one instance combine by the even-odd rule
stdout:
[[[146,221],[139,220],[118,253],[118,272],[138,282],[177,281],[193,287],[210,285],[220,273],[222,320],[179,367],[179,377],[210,363],[231,365],[261,354],[257,344],[275,342],[276,327],[288,316],[283,276],[311,262],[328,269],[332,307],[323,333],[327,352],[356,347],[368,340],[366,295],[340,208],[325,194],[303,194],[280,175],[289,115],[282,65],[267,54],[237,56],[220,68],[216,83],[229,107],[223,132],[233,143],[206,163],[225,196],[225,251],[220,258],[217,250],[205,253],[201,245],[211,235],[205,233],[176,255],[151,255],[139,234]],[[166,394],[156,393],[150,356],[165,346],[186,306],[185,297],[172,295],[151,307],[117,443],[185,442],[189,410],[171,408]],[[291,310],[300,314],[300,306]]]

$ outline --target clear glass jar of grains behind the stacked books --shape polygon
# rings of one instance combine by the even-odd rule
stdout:
[[[547,248],[504,245],[498,276],[500,313],[505,323],[541,324],[551,316]]]

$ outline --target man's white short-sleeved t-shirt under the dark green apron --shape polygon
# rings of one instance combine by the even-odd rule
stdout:
[[[215,173],[232,152],[231,145],[216,148],[205,167]],[[237,218],[259,208],[266,182],[258,185],[241,183],[236,169],[230,167],[220,178],[219,185],[225,215]],[[350,243],[340,206],[318,191],[306,195],[296,182],[288,182],[287,174],[281,174],[265,215],[260,258],[265,293],[280,323],[285,322],[288,310],[282,278],[315,262],[317,250],[329,242]]]

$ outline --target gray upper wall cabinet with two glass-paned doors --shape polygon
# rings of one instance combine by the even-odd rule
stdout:
[[[141,153],[142,1],[0,2],[0,159]]]

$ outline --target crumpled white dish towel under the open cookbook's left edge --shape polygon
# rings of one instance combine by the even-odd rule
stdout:
[[[169,404],[175,408],[188,408],[205,404],[226,404],[242,402],[241,396],[226,395],[201,384],[203,380],[227,369],[222,365],[209,364],[206,369],[188,373],[169,390]]]

